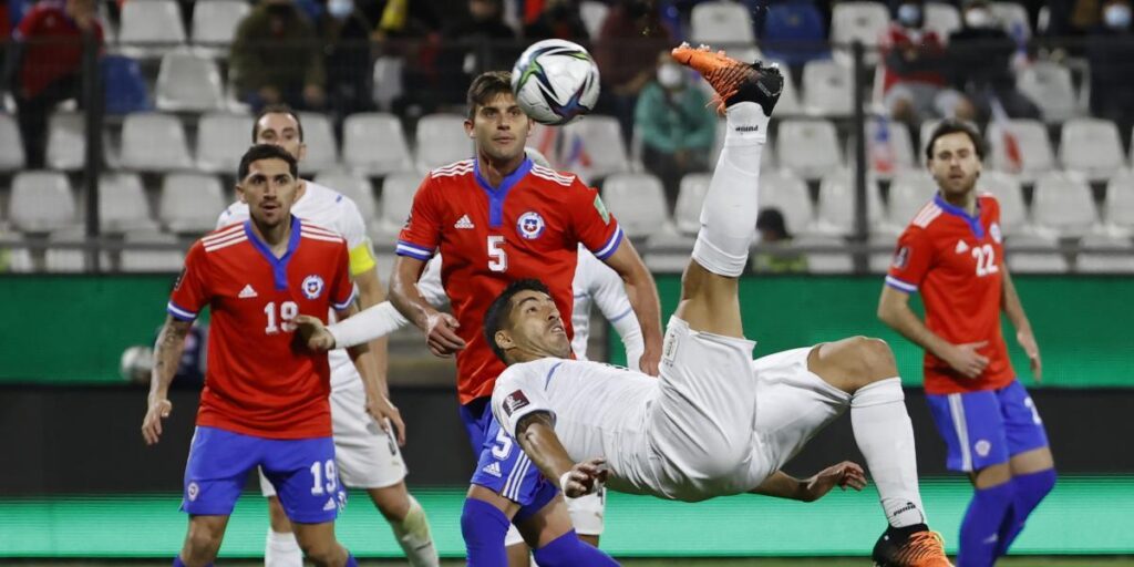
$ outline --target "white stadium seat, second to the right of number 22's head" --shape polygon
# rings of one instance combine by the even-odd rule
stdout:
[[[1088,179],[1109,179],[1126,166],[1118,127],[1098,118],[1067,120],[1059,141],[1059,161]]]

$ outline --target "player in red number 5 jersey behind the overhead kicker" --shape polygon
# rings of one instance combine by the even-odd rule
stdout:
[[[431,171],[418,187],[397,244],[390,302],[426,332],[434,354],[457,355],[460,415],[473,450],[483,454],[483,475],[473,481],[474,492],[481,493],[474,498],[501,509],[517,502],[535,513],[548,501],[536,494],[539,472],[524,467],[522,451],[511,450],[515,445],[506,433],[485,439],[488,400],[505,370],[482,336],[492,299],[511,281],[540,278],[559,311],[570,313],[582,244],[626,282],[645,342],[641,369],[653,375],[661,357],[661,324],[653,278],[618,221],[598,192],[574,175],[527,159],[530,130],[531,119],[513,96],[509,73],[485,73],[473,81],[465,133],[475,141],[476,155]],[[438,252],[445,257],[441,282],[455,316],[439,313],[414,286]],[[565,327],[570,336],[569,321]],[[492,443],[499,443],[496,450],[485,449]],[[505,488],[509,493],[501,496]],[[555,492],[552,488],[542,494]]]

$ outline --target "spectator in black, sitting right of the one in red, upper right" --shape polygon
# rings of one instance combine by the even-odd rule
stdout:
[[[949,76],[982,118],[999,101],[1012,118],[1040,118],[1040,109],[1016,90],[1012,60],[1016,41],[989,8],[988,0],[966,0],[964,26],[949,35]]]

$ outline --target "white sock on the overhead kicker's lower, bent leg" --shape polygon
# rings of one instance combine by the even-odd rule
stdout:
[[[874,479],[894,527],[924,524],[925,507],[917,489],[914,428],[906,413],[902,380],[891,378],[860,388],[850,397],[850,424],[866,468]]]

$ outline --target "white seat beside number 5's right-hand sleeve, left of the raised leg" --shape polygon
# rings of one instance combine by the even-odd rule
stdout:
[[[602,201],[631,238],[649,238],[669,226],[665,189],[650,174],[611,175],[602,184]]]

